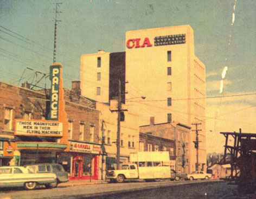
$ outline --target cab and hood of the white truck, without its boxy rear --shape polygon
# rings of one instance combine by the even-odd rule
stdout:
[[[124,164],[119,170],[107,171],[107,177],[111,182],[124,182],[125,179],[138,179],[138,168],[136,164]]]

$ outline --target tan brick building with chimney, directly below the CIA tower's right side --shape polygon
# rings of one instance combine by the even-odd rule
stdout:
[[[155,118],[150,117],[150,125],[139,127],[140,133],[147,133],[150,136],[160,137],[175,142],[175,169],[176,172],[190,173],[190,127],[181,123],[161,123],[155,124]],[[146,146],[144,146],[146,147]]]

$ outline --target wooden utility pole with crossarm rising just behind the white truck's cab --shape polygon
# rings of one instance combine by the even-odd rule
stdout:
[[[111,112],[117,112],[117,169],[120,169],[120,121],[121,121],[121,112],[127,110],[121,109],[121,80],[118,81],[118,104],[117,110]]]

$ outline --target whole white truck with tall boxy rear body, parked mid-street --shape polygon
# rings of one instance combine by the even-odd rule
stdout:
[[[132,163],[124,164],[119,170],[107,171],[111,182],[124,182],[125,179],[164,179],[170,178],[169,152],[138,152],[130,155]]]

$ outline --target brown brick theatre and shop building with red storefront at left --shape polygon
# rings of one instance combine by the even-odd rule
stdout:
[[[71,178],[98,179],[100,112],[95,102],[80,95],[80,82],[64,89],[68,143],[59,136],[15,135],[15,120],[47,121],[49,90],[34,91],[0,82],[0,164],[62,164]],[[70,144],[70,149],[68,149]]]

